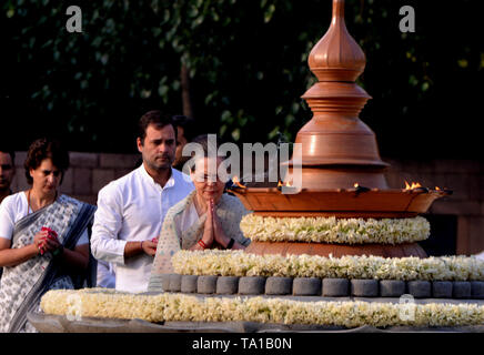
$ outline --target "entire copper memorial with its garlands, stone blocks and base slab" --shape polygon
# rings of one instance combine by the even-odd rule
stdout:
[[[359,119],[365,55],[343,0],[309,64],[314,115],[284,179],[301,166],[301,191],[232,186],[253,211],[241,222],[244,252],[181,251],[161,293],[50,291],[30,322],[43,332],[483,332],[484,263],[427,257],[416,243],[430,234],[419,214],[450,191],[389,189],[389,164]]]

